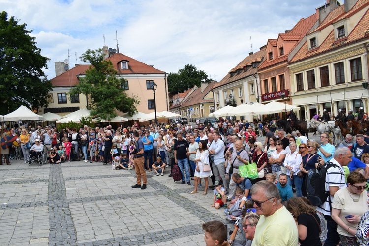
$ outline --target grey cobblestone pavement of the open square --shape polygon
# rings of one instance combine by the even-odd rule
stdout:
[[[169,170],[147,172],[141,190],[134,170],[101,163],[11,164],[0,166],[0,245],[205,245],[202,224],[227,223],[211,190],[190,195]]]

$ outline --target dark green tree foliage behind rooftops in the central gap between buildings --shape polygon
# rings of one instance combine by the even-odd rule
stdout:
[[[206,72],[198,71],[196,66],[187,64],[177,73],[168,74],[168,91],[171,94],[182,93],[195,85],[200,87],[201,82],[210,83],[211,80],[208,79]]]

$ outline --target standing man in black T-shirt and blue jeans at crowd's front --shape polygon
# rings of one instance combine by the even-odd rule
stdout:
[[[184,184],[187,182],[188,185],[191,185],[189,181],[190,171],[189,171],[189,164],[187,159],[187,152],[189,143],[187,140],[183,139],[182,133],[177,133],[177,142],[174,144],[174,162],[176,162],[181,170],[182,173],[182,183]],[[186,176],[184,177],[184,170]]]

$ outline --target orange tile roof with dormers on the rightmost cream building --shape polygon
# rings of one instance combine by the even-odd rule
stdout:
[[[369,0],[366,0],[369,1]],[[358,2],[359,3],[359,2]],[[361,5],[362,7],[364,5]],[[349,11],[350,12],[350,11]],[[348,12],[348,13],[349,13]],[[308,50],[307,42],[301,47],[301,49],[296,53],[296,55],[291,59],[289,63],[298,62],[315,55],[328,52],[332,49],[337,49],[340,46],[348,45],[350,43],[359,42],[363,39],[368,39],[369,31],[369,9],[366,11],[362,19],[358,22],[356,27],[351,31],[351,33],[346,37],[341,39],[341,41],[335,41],[334,31],[331,31],[327,38],[319,45],[319,47]]]

